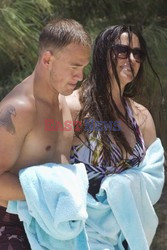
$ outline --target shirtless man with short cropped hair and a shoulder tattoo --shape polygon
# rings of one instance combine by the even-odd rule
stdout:
[[[89,54],[90,38],[78,22],[53,20],[41,32],[33,73],[0,103],[0,249],[10,244],[10,249],[29,249],[24,242],[2,246],[7,234],[4,218],[16,219],[4,207],[9,200],[25,199],[18,179],[20,169],[46,162],[68,163],[73,129],[50,131],[47,122],[72,120],[64,96],[83,79]]]

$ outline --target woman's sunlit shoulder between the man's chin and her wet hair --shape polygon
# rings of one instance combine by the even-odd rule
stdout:
[[[71,95],[66,96],[66,102],[70,108],[73,120],[76,119],[79,111],[81,110],[81,104],[79,101],[79,89],[75,90]]]

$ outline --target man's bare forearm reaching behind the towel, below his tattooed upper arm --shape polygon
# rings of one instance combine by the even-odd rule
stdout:
[[[0,200],[25,200],[17,175],[10,172],[0,175]]]

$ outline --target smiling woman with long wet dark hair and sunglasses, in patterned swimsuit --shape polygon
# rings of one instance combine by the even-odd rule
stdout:
[[[89,78],[67,98],[74,120],[82,125],[80,129],[78,125],[75,127],[76,138],[71,158],[73,162],[85,163],[88,191],[97,206],[100,202],[99,190],[107,177],[112,180],[112,176],[130,173],[129,170],[140,167],[147,149],[157,140],[150,112],[133,100],[144,82],[145,61],[157,76],[147,53],[146,42],[135,27],[116,25],[106,28],[95,40]],[[160,144],[160,151],[161,147]],[[163,170],[160,192],[162,185]],[[90,211],[92,207],[88,209],[88,229],[93,232],[96,228],[94,234],[101,235],[96,220],[91,219],[93,215]],[[92,249],[104,249],[97,248],[92,235],[88,234],[91,246],[94,246]],[[106,237],[108,239],[108,235],[103,236],[101,244]],[[127,248],[123,239],[123,246]]]

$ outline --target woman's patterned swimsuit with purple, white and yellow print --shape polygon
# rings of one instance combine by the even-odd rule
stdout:
[[[122,155],[119,147],[114,144],[110,143],[111,145],[111,162],[113,165],[117,167],[114,168],[113,166],[106,166],[105,160],[103,159],[100,152],[100,140],[94,138],[90,135],[90,147],[87,147],[85,144],[80,144],[72,147],[71,150],[71,163],[78,163],[83,162],[86,166],[88,179],[89,179],[89,193],[95,197],[98,193],[101,181],[107,175],[113,173],[120,173],[125,169],[125,164],[128,167],[133,167],[139,164],[146,152],[146,148],[144,145],[144,139],[137,125],[135,118],[133,117],[133,113],[131,108],[126,103],[126,110],[128,117],[130,119],[131,125],[136,133],[136,144],[133,148],[133,154],[129,156],[128,159],[122,160]],[[99,145],[98,145],[99,144]],[[97,147],[99,150],[97,150]],[[96,149],[96,150],[95,150]],[[94,166],[94,162],[97,162],[96,166]],[[124,166],[124,168],[123,168]]]

